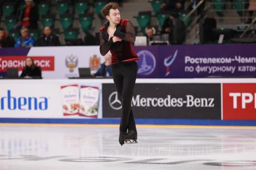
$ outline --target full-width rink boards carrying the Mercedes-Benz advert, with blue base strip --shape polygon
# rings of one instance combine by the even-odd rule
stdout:
[[[96,116],[64,114],[61,87],[74,84],[78,96],[84,86],[99,89]],[[1,80],[0,89],[0,123],[120,123],[112,79]],[[256,80],[137,79],[132,110],[141,125],[255,126]]]

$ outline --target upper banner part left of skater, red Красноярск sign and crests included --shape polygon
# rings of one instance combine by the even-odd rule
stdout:
[[[47,79],[79,77],[78,68],[91,68],[94,74],[104,62],[99,46],[9,48],[1,52],[2,49],[0,76],[6,76],[6,69],[10,67],[19,68],[21,74],[27,56],[35,59],[42,68],[42,77]]]

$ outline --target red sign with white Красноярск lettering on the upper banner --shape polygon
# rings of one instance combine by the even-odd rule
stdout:
[[[18,68],[19,71],[25,67],[27,56],[0,56],[0,72],[7,71],[7,68]],[[42,71],[54,71],[53,56],[29,56],[34,59],[35,65],[40,66]]]

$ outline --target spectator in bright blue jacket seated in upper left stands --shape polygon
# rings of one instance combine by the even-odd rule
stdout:
[[[28,35],[28,28],[20,29],[21,37],[18,38],[14,47],[32,47],[34,45],[34,39]]]

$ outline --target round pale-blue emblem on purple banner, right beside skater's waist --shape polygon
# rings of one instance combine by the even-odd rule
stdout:
[[[139,51],[137,54],[140,58],[140,60],[138,60],[138,74],[150,75],[156,68],[156,58],[148,50]]]

